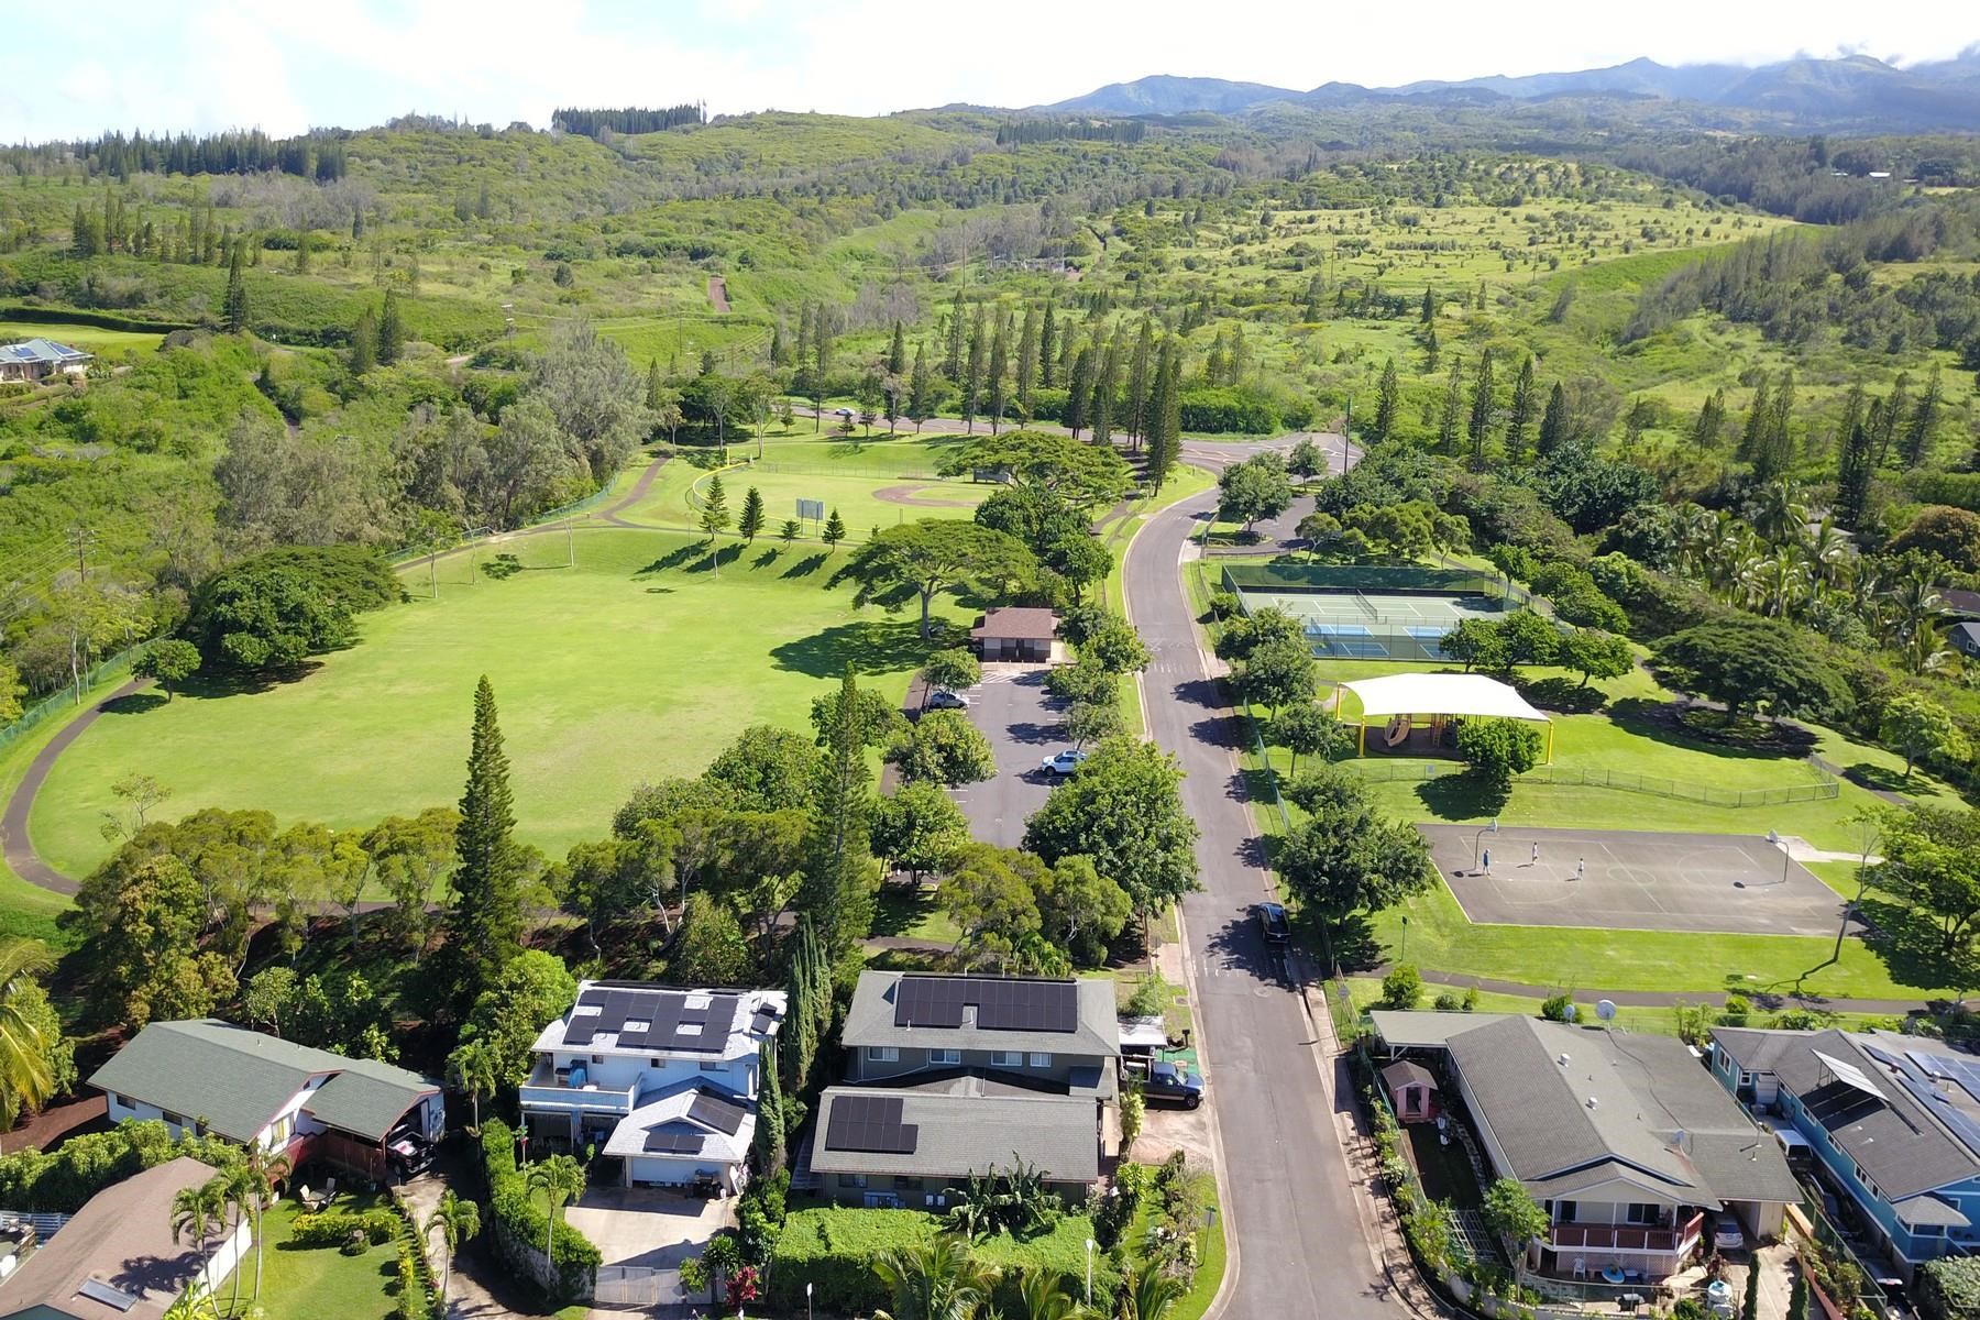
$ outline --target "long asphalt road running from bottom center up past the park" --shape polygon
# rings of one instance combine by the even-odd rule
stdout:
[[[1331,441],[1336,445],[1338,441]],[[1241,445],[1190,445],[1216,465]],[[1374,1263],[1329,1094],[1350,1094],[1319,1049],[1321,1029],[1251,918],[1271,877],[1238,774],[1239,716],[1224,705],[1196,643],[1178,558],[1216,491],[1172,505],[1127,560],[1129,613],[1154,653],[1144,675],[1148,732],[1186,772],[1184,807],[1202,837],[1204,889],[1182,902],[1196,980],[1198,1043],[1222,1148],[1224,1213],[1236,1241],[1218,1316],[1390,1320],[1398,1306]],[[1323,1084],[1323,1069],[1331,1084]]]

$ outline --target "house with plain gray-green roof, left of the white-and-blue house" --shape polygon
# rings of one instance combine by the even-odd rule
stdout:
[[[426,1168],[447,1110],[418,1073],[214,1019],[154,1021],[97,1069],[111,1122],[162,1120],[362,1178]]]

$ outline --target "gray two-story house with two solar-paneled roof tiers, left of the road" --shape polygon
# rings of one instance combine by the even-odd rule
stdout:
[[[818,1100],[810,1172],[849,1205],[940,1205],[970,1174],[1036,1168],[1067,1201],[1099,1179],[1119,1098],[1107,980],[863,972]]]

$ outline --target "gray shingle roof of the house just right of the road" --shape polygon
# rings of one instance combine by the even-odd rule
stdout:
[[[1536,1195],[1628,1170],[1695,1205],[1800,1199],[1780,1146],[1683,1041],[1534,1017],[1449,1031],[1447,1041],[1473,1118],[1511,1166],[1503,1172],[1540,1187]]]

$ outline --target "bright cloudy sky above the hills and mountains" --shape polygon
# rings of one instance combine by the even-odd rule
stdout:
[[[1144,73],[1285,87],[1536,73],[1649,55],[1756,63],[1798,51],[1956,53],[1980,22],[1950,0],[1352,4],[1202,0],[105,0],[0,40],[0,141],[150,131],[364,127],[418,109],[507,125],[556,105],[877,115],[1036,105]],[[1513,16],[1517,14],[1517,18]],[[1208,20],[1206,20],[1208,16]]]

